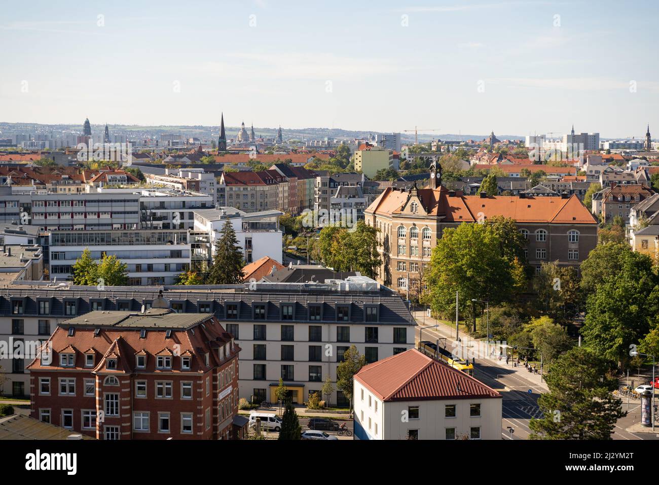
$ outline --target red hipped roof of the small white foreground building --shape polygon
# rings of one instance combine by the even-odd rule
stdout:
[[[355,374],[382,401],[501,398],[500,393],[464,372],[411,348],[364,366]]]

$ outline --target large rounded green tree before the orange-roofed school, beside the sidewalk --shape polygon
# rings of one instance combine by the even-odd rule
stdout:
[[[501,241],[498,228],[486,222],[445,229],[432,251],[426,276],[432,309],[454,315],[457,290],[460,313],[474,316],[472,299],[496,306],[525,289],[525,269],[519,259],[511,259],[517,249],[504,249]]]

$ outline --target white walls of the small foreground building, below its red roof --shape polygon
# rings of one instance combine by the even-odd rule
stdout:
[[[357,379],[353,395],[356,438],[501,439],[500,398],[383,402]]]

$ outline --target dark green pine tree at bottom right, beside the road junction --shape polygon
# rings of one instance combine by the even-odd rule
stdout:
[[[617,381],[610,362],[584,347],[575,347],[549,367],[549,392],[538,405],[544,418],[533,418],[530,439],[611,439],[621,401],[612,395]]]

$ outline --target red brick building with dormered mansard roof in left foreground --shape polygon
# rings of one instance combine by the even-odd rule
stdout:
[[[59,323],[49,358],[28,366],[31,416],[98,439],[241,434],[239,346],[212,313],[167,305],[159,298],[145,313],[92,311]]]

